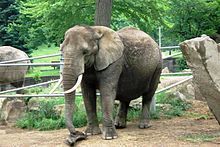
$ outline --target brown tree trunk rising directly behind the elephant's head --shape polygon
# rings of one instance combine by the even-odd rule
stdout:
[[[95,25],[110,27],[112,0],[96,0]]]

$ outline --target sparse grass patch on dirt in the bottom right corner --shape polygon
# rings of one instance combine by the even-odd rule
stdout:
[[[187,134],[181,137],[181,140],[189,141],[193,143],[198,142],[211,142],[214,141],[216,138],[220,137],[220,133],[194,133],[194,134]]]

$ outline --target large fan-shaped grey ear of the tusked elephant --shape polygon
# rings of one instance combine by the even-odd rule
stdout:
[[[117,61],[122,55],[124,45],[118,34],[107,27],[96,27],[99,51],[95,57],[95,69],[97,71],[107,68],[110,64]]]

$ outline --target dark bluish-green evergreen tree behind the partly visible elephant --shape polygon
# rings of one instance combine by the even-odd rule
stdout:
[[[29,53],[25,47],[25,42],[19,34],[19,6],[15,0],[1,0],[0,2],[0,45],[13,46]]]

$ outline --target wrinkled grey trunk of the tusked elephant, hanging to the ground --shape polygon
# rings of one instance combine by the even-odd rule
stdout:
[[[74,60],[73,60],[74,59]],[[84,72],[83,58],[80,60],[74,57],[64,56],[64,68],[63,68],[63,87],[64,91],[71,89],[77,81],[80,74]],[[73,126],[73,110],[75,105],[75,91],[65,93],[65,121],[66,126],[71,134],[75,134],[75,128]]]

